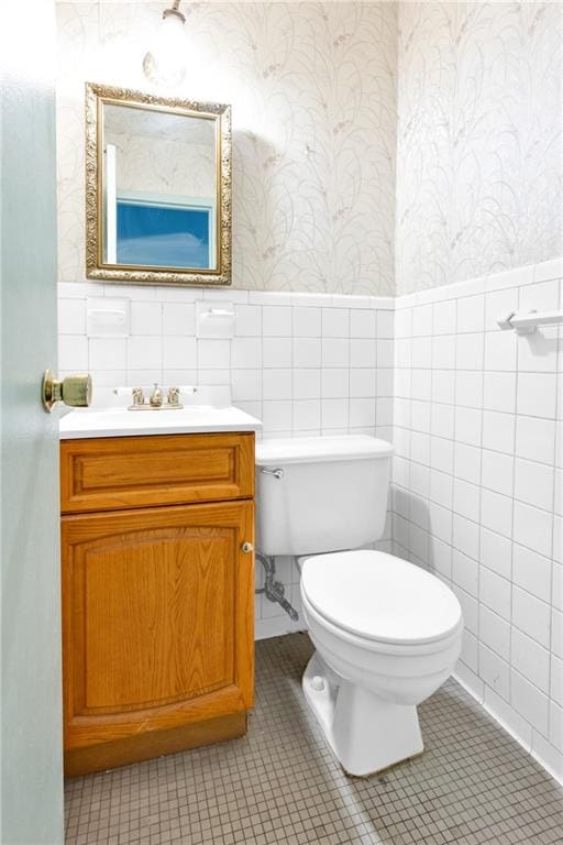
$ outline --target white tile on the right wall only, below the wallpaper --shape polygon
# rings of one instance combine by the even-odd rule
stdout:
[[[393,496],[396,552],[460,597],[459,677],[560,778],[563,331],[496,318],[562,308],[562,277],[553,261],[396,300]]]

